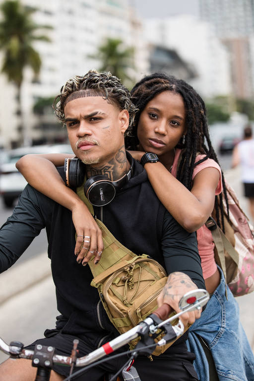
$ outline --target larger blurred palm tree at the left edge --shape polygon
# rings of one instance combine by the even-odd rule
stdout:
[[[32,19],[35,8],[24,6],[19,0],[6,0],[0,5],[2,14],[0,20],[0,50],[3,52],[1,71],[7,75],[8,81],[17,88],[17,115],[20,115],[21,126],[18,128],[21,140],[24,139],[24,126],[22,124],[21,85],[24,68],[30,66],[37,76],[41,68],[39,53],[33,48],[33,42],[50,39],[38,35],[42,28],[50,26],[38,25]]]

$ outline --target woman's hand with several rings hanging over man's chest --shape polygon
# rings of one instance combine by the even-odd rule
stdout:
[[[77,235],[74,249],[77,262],[82,262],[82,265],[85,266],[89,259],[95,255],[94,263],[97,264],[104,249],[101,229],[82,201],[77,203],[71,211]]]

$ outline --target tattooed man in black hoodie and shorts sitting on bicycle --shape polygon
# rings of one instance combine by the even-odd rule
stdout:
[[[106,173],[111,181],[118,181],[125,176],[130,163],[124,134],[135,108],[120,80],[110,73],[91,70],[67,81],[57,98],[60,101],[56,114],[66,124],[74,154],[86,164],[86,177]],[[160,304],[168,303],[176,309],[187,291],[204,288],[195,234],[187,233],[166,211],[138,162],[134,161],[131,178],[115,198],[103,207],[95,206],[94,212],[124,246],[136,254],[149,254],[167,269],[170,275]],[[56,353],[69,355],[77,337],[79,355],[84,356],[118,332],[110,323],[97,290],[90,286],[93,277],[89,267],[79,264],[72,254],[75,230],[70,212],[27,186],[13,215],[0,230],[0,270],[10,267],[44,227],[61,316],[56,328],[46,330],[46,338],[36,343],[51,345]],[[187,314],[185,323],[198,317],[197,311]],[[191,364],[194,355],[187,351],[186,337],[183,335],[162,356],[154,356],[153,362],[146,356],[138,357],[135,367],[140,379],[196,380]],[[33,348],[34,344],[28,347]],[[103,380],[104,375],[117,372],[126,361],[127,357],[109,359],[75,380]],[[54,370],[53,381],[63,380],[69,372],[62,366]],[[0,381],[33,380],[34,373],[29,361],[7,360],[0,366]]]

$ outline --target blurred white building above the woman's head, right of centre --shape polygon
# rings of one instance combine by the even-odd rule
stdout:
[[[191,85],[204,97],[231,92],[226,49],[212,27],[192,15],[147,19],[145,37],[153,44],[175,49],[197,73]]]

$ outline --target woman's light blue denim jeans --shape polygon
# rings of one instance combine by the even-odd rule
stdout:
[[[254,355],[239,320],[239,306],[221,281],[207,303],[201,318],[189,329],[187,346],[196,355],[194,368],[200,381],[209,381],[209,367],[197,335],[208,344],[220,381],[254,381]]]

